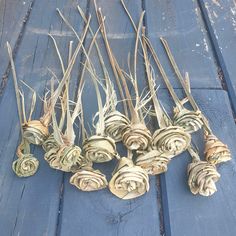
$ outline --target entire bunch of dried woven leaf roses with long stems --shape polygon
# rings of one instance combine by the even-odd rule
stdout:
[[[105,17],[101,9],[97,8],[96,2],[95,9],[99,23],[99,28],[96,32],[93,32],[90,27],[91,17],[86,18],[84,12],[78,6],[78,11],[86,24],[81,36],[77,34],[72,25],[57,9],[62,20],[75,33],[78,44],[73,51],[72,42],[70,42],[68,65],[65,67],[56,40],[50,35],[60,60],[63,76],[57,88],[54,89],[53,78],[56,76],[53,74],[50,91],[46,93],[43,100],[44,114],[39,120],[31,119],[36,104],[36,93],[28,85],[33,92],[33,96],[29,118],[26,118],[24,96],[18,88],[11,47],[7,44],[22,134],[22,142],[17,149],[18,159],[13,162],[12,168],[19,177],[34,175],[38,169],[39,162],[30,153],[30,144],[41,145],[45,150],[44,159],[50,167],[64,172],[72,172],[70,183],[78,189],[94,191],[109,186],[110,191],[117,197],[131,199],[141,196],[149,190],[148,175],[158,175],[166,172],[172,158],[184,151],[188,151],[192,157],[192,162],[188,166],[190,190],[193,194],[210,196],[216,191],[215,183],[220,178],[216,165],[230,160],[230,151],[227,145],[222,143],[210,129],[206,117],[200,111],[191,94],[189,78],[187,74],[186,78],[181,75],[167,41],[163,38],[160,39],[176,78],[185,91],[186,98],[183,100],[175,93],[150,40],[145,35],[145,28],[142,26],[144,12],[141,14],[139,23],[136,26],[123,1],[121,3],[136,32],[132,63],[133,73],[130,71],[126,73],[120,68],[107,38]],[[83,42],[88,32],[91,34],[92,40],[88,49],[85,49]],[[104,39],[107,56],[123,102],[124,113],[118,111],[117,108],[116,91],[101,55],[100,45],[96,41],[98,33],[101,33]],[[99,79],[90,60],[90,53],[93,47],[96,47],[103,71],[103,80]],[[136,70],[139,47],[142,49],[149,85],[149,90],[144,96],[139,95],[137,84]],[[86,60],[83,63],[76,101],[72,102],[69,100],[70,77],[80,51],[85,55]],[[153,65],[150,58],[152,58]],[[128,64],[130,68],[130,58]],[[158,100],[153,66],[156,66],[159,70],[175,102],[173,119],[168,116]],[[93,117],[95,134],[92,135],[89,135],[84,127],[82,107],[86,71],[89,72],[94,84],[98,102],[98,112]],[[134,96],[130,94],[128,82],[134,88]],[[106,94],[105,102],[102,100],[101,89]],[[150,102],[152,102],[154,109],[146,108]],[[192,110],[185,108],[186,103],[191,105]],[[60,112],[59,121],[56,111]],[[148,115],[157,119],[159,128],[154,133],[150,132],[145,123],[145,118]],[[74,122],[76,119],[81,124],[82,148],[75,144]],[[51,133],[49,132],[50,125],[53,130]],[[204,130],[205,160],[200,159],[198,152],[191,144],[191,133],[200,129]],[[126,157],[120,157],[118,154],[116,150],[117,142],[122,142],[126,147]],[[118,163],[108,183],[106,176],[100,170],[93,168],[93,163],[104,163],[114,158],[117,159]]]

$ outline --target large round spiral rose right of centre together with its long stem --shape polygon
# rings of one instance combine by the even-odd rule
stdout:
[[[145,29],[143,29],[142,46],[145,59],[147,79],[148,79],[149,89],[152,95],[152,101],[155,109],[155,116],[157,118],[157,122],[160,127],[154,132],[152,136],[151,148],[157,150],[160,153],[163,153],[165,157],[172,158],[184,152],[188,148],[191,142],[191,136],[190,134],[185,132],[185,130],[180,126],[172,125],[171,119],[164,110],[163,106],[161,106],[156,96],[156,91],[154,89],[156,87],[155,83],[156,76],[154,75],[154,71],[151,67],[150,60],[148,58],[147,45],[149,46],[149,49],[151,50],[152,55],[158,67],[160,68],[163,77],[165,77],[166,80],[167,76],[165,74],[164,69],[162,68],[161,63],[159,62],[159,59],[157,58],[156,53],[154,52],[154,49],[152,48],[151,43],[145,36]]]

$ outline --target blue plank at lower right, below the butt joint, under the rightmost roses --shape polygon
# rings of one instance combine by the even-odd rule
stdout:
[[[222,90],[193,90],[200,108],[209,118],[213,132],[232,151],[232,161],[218,168],[221,178],[217,182],[218,191],[206,198],[194,196],[187,185],[187,165],[190,156],[185,153],[169,165],[163,178],[165,193],[162,198],[168,206],[168,235],[235,235],[236,201],[235,201],[235,138],[236,129],[227,93]],[[160,92],[164,105],[169,103],[165,90]],[[169,103],[170,104],[170,103]],[[194,143],[199,147],[203,157],[203,140],[201,134],[194,135]],[[165,212],[164,208],[164,213]]]

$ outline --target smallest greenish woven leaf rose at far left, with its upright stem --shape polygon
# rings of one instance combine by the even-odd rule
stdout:
[[[18,116],[20,121],[20,131],[21,131],[21,143],[17,148],[16,155],[18,157],[12,163],[12,169],[15,174],[19,177],[29,177],[34,175],[39,167],[38,160],[30,153],[30,143],[27,139],[24,138],[24,131],[22,126],[22,107],[21,107],[21,100],[20,100],[20,91],[18,88],[17,77],[16,77],[16,69],[15,64],[12,57],[12,49],[10,44],[7,42],[7,49],[8,54],[11,62],[12,68],[12,75],[14,81],[14,88],[15,88],[15,95],[16,95],[16,102],[17,102],[17,109],[18,109]]]

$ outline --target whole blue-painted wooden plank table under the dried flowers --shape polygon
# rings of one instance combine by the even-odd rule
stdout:
[[[176,91],[180,85],[171,71],[161,43],[165,36],[182,72],[191,77],[193,95],[208,117],[214,133],[232,151],[231,162],[220,166],[218,192],[212,197],[194,196],[187,186],[187,153],[175,158],[166,174],[150,178],[150,191],[137,199],[120,200],[108,189],[84,193],[69,184],[70,174],[50,169],[43,151],[33,148],[40,159],[40,169],[31,178],[18,178],[11,170],[19,143],[13,81],[5,43],[13,47],[18,78],[34,87],[42,96],[50,79],[48,68],[58,72],[53,44],[55,36],[66,58],[69,40],[76,38],[63,24],[56,8],[82,32],[84,23],[77,4],[92,15],[97,27],[93,1],[89,0],[0,0],[0,235],[62,236],[234,236],[236,235],[236,3],[234,0],[129,0],[127,7],[138,22],[146,11],[144,24]],[[98,0],[106,16],[108,38],[122,67],[133,51],[135,33],[119,0]],[[89,42],[89,35],[85,44]],[[98,40],[102,40],[99,38]],[[101,46],[102,48],[102,46]],[[105,49],[103,47],[105,55]],[[94,58],[93,58],[94,57]],[[83,55],[80,55],[83,60]],[[95,54],[92,55],[95,60]],[[106,59],[107,60],[107,59]],[[95,65],[97,72],[101,68]],[[76,91],[77,63],[72,76]],[[146,86],[143,62],[139,60],[140,88]],[[172,104],[160,81],[160,98],[165,106]],[[86,120],[97,110],[93,86],[85,87]],[[26,99],[30,94],[26,93]],[[87,97],[87,99],[86,99]],[[89,99],[88,99],[89,98]],[[29,109],[29,108],[27,108]],[[38,99],[37,118],[42,113]],[[152,123],[155,128],[155,122]],[[195,142],[203,155],[200,137]],[[124,152],[124,150],[120,150]],[[108,175],[115,161],[98,167]]]

